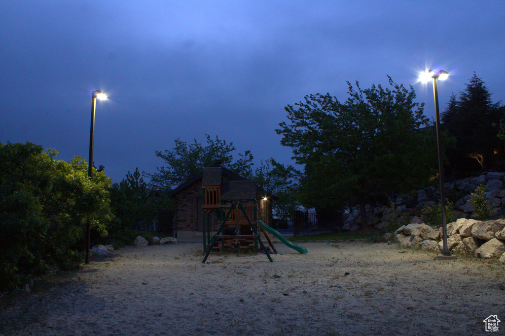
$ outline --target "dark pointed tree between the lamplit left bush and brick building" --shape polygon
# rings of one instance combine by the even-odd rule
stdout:
[[[172,207],[172,201],[151,190],[135,168],[133,174],[128,171],[126,178],[112,185],[111,206],[116,220],[109,231],[115,239],[121,239],[129,238],[128,232],[139,223],[156,219],[158,210]]]

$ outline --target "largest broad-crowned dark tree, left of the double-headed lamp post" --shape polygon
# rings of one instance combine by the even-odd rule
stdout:
[[[358,83],[355,90],[347,82],[345,103],[316,94],[285,108],[290,122],[276,131],[305,166],[299,193],[304,207],[342,209],[350,199],[360,205],[366,228],[371,196],[410,191],[434,175],[435,133],[427,127],[424,104],[414,102],[412,87],[388,79],[392,91],[381,85],[362,90]]]

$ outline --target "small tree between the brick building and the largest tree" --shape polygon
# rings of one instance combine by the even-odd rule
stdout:
[[[254,179],[258,185],[278,197],[272,203],[272,210],[281,220],[289,219],[294,210],[300,207],[296,198],[299,174],[291,165],[286,167],[274,158],[262,161],[261,167],[255,170]]]

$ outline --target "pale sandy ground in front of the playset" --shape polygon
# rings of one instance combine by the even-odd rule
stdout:
[[[308,254],[211,255],[125,247],[31,294],[0,300],[2,335],[472,335],[497,314],[497,260],[434,260],[384,243],[307,243]],[[496,334],[496,333],[495,333]]]

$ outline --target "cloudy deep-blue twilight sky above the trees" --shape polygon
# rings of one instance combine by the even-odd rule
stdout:
[[[434,116],[476,72],[505,100],[505,1],[0,2],[0,142],[27,141],[88,159],[119,182],[156,172],[174,140],[233,142],[290,161],[275,133],[284,107],[312,93],[347,99],[346,81],[412,85]],[[253,168],[255,168],[253,167]]]

